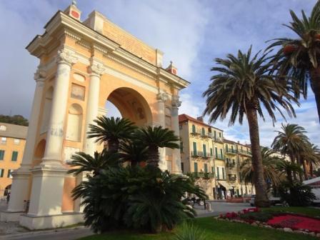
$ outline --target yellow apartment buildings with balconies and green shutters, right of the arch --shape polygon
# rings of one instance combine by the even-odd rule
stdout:
[[[240,164],[251,156],[250,147],[224,139],[224,131],[195,119],[179,115],[181,139],[181,169],[184,174],[194,173],[196,184],[209,199],[254,194],[251,186],[244,184]]]

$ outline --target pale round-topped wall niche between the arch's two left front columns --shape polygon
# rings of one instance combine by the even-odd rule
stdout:
[[[66,124],[66,140],[81,141],[83,111],[79,104],[71,104]]]

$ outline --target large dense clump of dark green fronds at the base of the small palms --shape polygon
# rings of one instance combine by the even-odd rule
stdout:
[[[84,199],[85,224],[95,232],[120,227],[160,231],[194,216],[181,201],[186,192],[206,198],[185,176],[151,166],[119,166],[89,176],[74,189],[74,198]]]

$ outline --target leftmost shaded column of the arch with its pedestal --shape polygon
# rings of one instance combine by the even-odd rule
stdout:
[[[38,67],[34,80],[36,80],[36,89],[34,91],[34,101],[32,103],[28,134],[26,136],[26,146],[24,147],[24,156],[21,166],[12,173],[14,177],[11,186],[11,197],[8,211],[24,211],[24,201],[27,200],[29,192],[29,179],[32,160],[34,159],[34,147],[36,145],[36,130],[39,124],[39,113],[41,98],[44,91],[44,80],[46,72],[41,66]]]

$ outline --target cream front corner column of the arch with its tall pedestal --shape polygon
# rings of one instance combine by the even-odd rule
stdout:
[[[76,62],[72,51],[62,49],[56,56],[56,79],[52,99],[46,150],[39,166],[31,169],[33,176],[28,216],[61,214],[64,176],[61,155],[64,142],[66,106],[69,95],[71,66]]]

